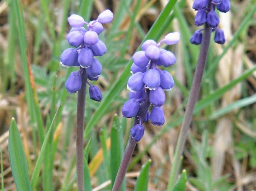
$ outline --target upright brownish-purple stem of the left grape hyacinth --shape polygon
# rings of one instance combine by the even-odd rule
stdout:
[[[82,87],[77,92],[77,129],[76,129],[76,168],[77,168],[77,191],[84,191],[84,108],[86,96],[86,72],[81,73]]]

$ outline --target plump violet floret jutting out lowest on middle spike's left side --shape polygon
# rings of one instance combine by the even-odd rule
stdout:
[[[135,117],[139,111],[139,102],[136,99],[129,99],[122,108],[122,114],[126,118]]]

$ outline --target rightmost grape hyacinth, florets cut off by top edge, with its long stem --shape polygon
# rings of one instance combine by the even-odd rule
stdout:
[[[188,103],[186,105],[185,114],[175,149],[167,190],[172,190],[173,185],[175,185],[175,182],[177,181],[179,167],[181,166],[180,159],[184,150],[186,137],[188,136],[195,104],[198,100],[212,32],[215,31],[214,41],[216,43],[225,43],[224,32],[218,28],[219,17],[215,9],[226,13],[230,9],[230,2],[229,0],[195,0],[193,3],[193,9],[197,11],[195,16],[195,25],[204,25],[204,28],[195,31],[190,39],[192,44],[201,44],[201,47],[191,86],[191,92],[189,94]]]

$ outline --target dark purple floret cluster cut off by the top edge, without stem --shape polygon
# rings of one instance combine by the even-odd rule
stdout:
[[[207,23],[213,31],[216,31],[214,41],[218,44],[224,44],[226,41],[225,35],[223,30],[217,27],[219,25],[219,17],[215,8],[220,12],[226,13],[230,10],[230,2],[229,0],[195,0],[193,4],[193,9],[197,10],[195,25],[201,26]],[[201,44],[202,31],[203,29],[194,32],[190,39],[192,44]]]

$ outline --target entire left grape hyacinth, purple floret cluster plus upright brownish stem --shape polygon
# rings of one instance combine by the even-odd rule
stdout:
[[[107,47],[99,39],[99,34],[104,30],[102,24],[110,23],[113,13],[105,10],[96,20],[84,21],[79,15],[68,17],[68,23],[72,27],[67,34],[68,48],[62,52],[60,60],[64,67],[77,66],[80,69],[73,71],[65,83],[68,93],[77,93],[77,133],[76,133],[76,166],[77,166],[77,190],[84,191],[83,174],[83,131],[84,108],[86,96],[86,84],[89,85],[89,96],[94,101],[101,101],[102,95],[99,87],[91,85],[88,80],[96,81],[102,71],[98,56],[107,52]],[[84,27],[86,25],[86,27]]]

